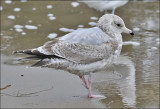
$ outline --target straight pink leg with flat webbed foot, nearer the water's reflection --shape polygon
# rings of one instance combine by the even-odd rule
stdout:
[[[92,95],[91,86],[92,86],[92,75],[90,73],[88,76],[88,87],[89,87],[88,97],[89,98],[105,98],[105,96],[103,95]]]

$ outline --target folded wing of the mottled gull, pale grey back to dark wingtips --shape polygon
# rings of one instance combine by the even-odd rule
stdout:
[[[63,58],[71,62],[88,64],[108,58],[118,44],[97,27],[76,30],[43,46],[16,53],[26,53],[50,58]]]

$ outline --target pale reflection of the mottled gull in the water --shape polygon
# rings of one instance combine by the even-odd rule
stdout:
[[[97,85],[100,92],[107,98],[102,100],[105,104],[109,104],[111,108],[135,107],[136,104],[136,87],[135,87],[135,66],[134,63],[127,56],[120,56],[115,62],[113,68],[109,68],[102,74],[95,74]],[[99,83],[99,80],[101,82]],[[99,85],[101,84],[101,85]],[[110,86],[112,85],[112,87]],[[113,87],[116,90],[113,90]],[[103,90],[101,90],[103,89]],[[107,92],[107,93],[106,93]],[[109,94],[116,94],[121,97],[122,104],[117,103],[117,99],[110,98]],[[111,100],[111,101],[110,101]],[[108,107],[108,106],[107,106]]]

